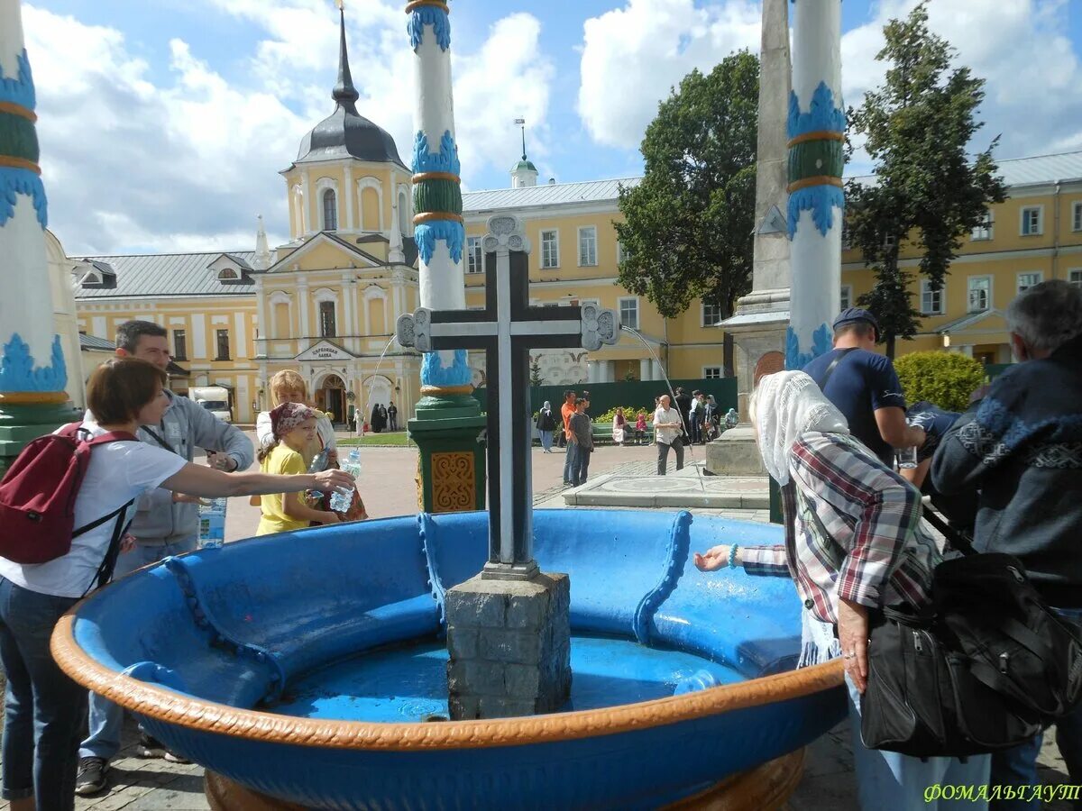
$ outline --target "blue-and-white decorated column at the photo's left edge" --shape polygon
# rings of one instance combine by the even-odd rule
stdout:
[[[45,258],[34,78],[18,0],[0,0],[0,470],[72,418]]]

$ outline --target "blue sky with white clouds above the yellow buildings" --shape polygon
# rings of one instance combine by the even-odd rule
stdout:
[[[886,19],[914,0],[845,0],[845,101],[882,78]],[[347,0],[361,115],[408,160],[405,2]],[[517,117],[541,180],[628,177],[658,102],[691,68],[757,50],[751,0],[456,0],[463,181],[504,187]],[[988,80],[1001,158],[1082,149],[1082,2],[933,0],[931,24]],[[24,0],[50,226],[69,254],[251,249],[285,241],[277,174],[333,109],[332,0]]]

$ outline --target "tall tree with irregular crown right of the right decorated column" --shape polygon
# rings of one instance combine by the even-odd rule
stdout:
[[[921,315],[909,290],[914,274],[899,266],[899,251],[914,245],[920,275],[940,290],[962,239],[1006,197],[992,159],[999,137],[976,156],[967,152],[984,125],[975,116],[985,80],[953,67],[955,50],[927,23],[926,0],[907,19],[887,23],[875,57],[888,64],[883,85],[848,111],[849,136],[866,137],[874,163],[874,182],[845,187],[849,242],[875,272],[858,303],[879,318],[892,358],[895,341],[912,337]]]

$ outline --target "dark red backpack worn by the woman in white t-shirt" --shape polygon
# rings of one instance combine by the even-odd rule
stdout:
[[[75,500],[93,447],[138,441],[127,431],[87,436],[81,423],[65,425],[29,442],[8,468],[0,480],[0,556],[15,563],[55,560],[68,554],[71,539],[122,515],[131,504],[75,528]],[[121,533],[114,534],[119,540]]]

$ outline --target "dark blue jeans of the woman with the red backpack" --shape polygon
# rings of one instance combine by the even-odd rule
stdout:
[[[8,800],[34,797],[38,811],[75,806],[87,690],[56,666],[49,638],[76,602],[0,577],[0,663],[8,675],[0,794]]]

